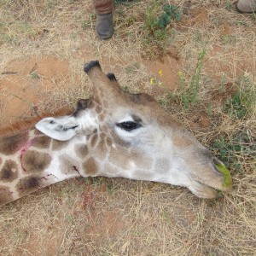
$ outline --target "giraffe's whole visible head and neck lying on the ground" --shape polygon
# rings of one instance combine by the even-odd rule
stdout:
[[[121,90],[98,61],[84,65],[93,96],[73,113],[0,137],[0,205],[72,177],[126,177],[187,187],[201,198],[230,191],[223,163],[148,94]],[[36,124],[35,124],[36,123]]]

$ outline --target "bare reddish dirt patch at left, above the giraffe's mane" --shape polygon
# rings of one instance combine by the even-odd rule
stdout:
[[[11,61],[0,79],[0,91],[5,95],[0,125],[35,116],[38,102],[68,75],[68,61],[53,57]]]

